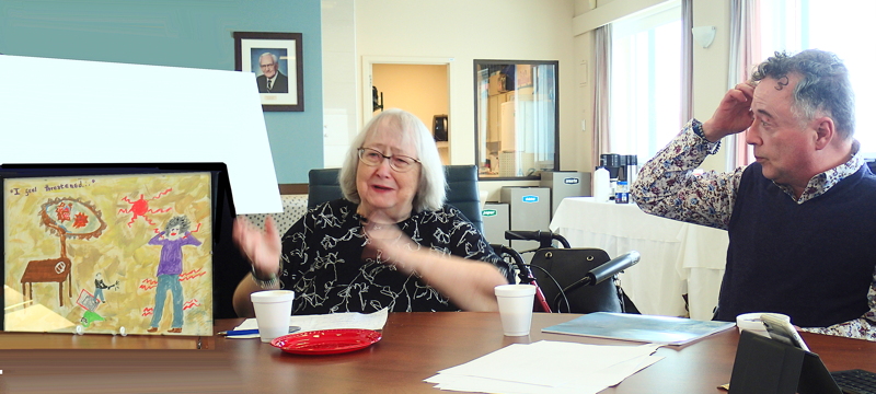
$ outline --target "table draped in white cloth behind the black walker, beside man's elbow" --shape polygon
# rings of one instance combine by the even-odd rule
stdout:
[[[643,212],[635,204],[563,199],[551,230],[572,247],[598,247],[639,263],[621,274],[621,286],[644,314],[711,320],[727,257],[727,232]],[[685,311],[683,294],[688,294]]]

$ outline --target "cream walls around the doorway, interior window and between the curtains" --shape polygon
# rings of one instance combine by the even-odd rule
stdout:
[[[558,60],[561,170],[591,171],[592,37],[580,26],[608,23],[619,14],[664,1],[598,0],[591,10],[588,0],[323,0],[326,119],[328,111],[344,119],[357,114],[358,128],[370,116],[361,109],[368,104],[364,86],[370,86],[370,76],[362,76],[364,59],[417,62],[422,58],[425,63],[442,59],[437,62],[449,67],[450,161],[471,164],[475,151],[473,60]],[[729,0],[693,0],[693,12],[695,26],[717,27],[715,43],[694,47],[693,53],[694,115],[705,119],[727,90]],[[356,76],[355,84],[348,82],[350,73]],[[344,83],[337,83],[341,80]],[[355,105],[349,97],[356,97]],[[343,132],[326,134],[326,144],[347,143],[333,136]],[[704,166],[723,170],[724,161],[721,153]],[[485,183],[493,199],[503,183]]]

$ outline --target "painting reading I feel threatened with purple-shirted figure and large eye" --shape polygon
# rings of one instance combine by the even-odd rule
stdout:
[[[210,190],[210,173],[4,179],[4,329],[212,335]]]

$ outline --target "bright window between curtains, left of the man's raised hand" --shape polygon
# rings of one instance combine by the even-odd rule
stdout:
[[[681,129],[678,1],[612,23],[609,151],[639,162]]]

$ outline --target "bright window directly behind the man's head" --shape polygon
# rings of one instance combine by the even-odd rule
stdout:
[[[855,92],[855,139],[865,158],[876,158],[876,79],[871,74],[876,53],[869,42],[869,23],[876,2],[861,0],[758,0],[760,59],[776,50],[830,50],[849,68]],[[838,25],[842,27],[839,28]]]

